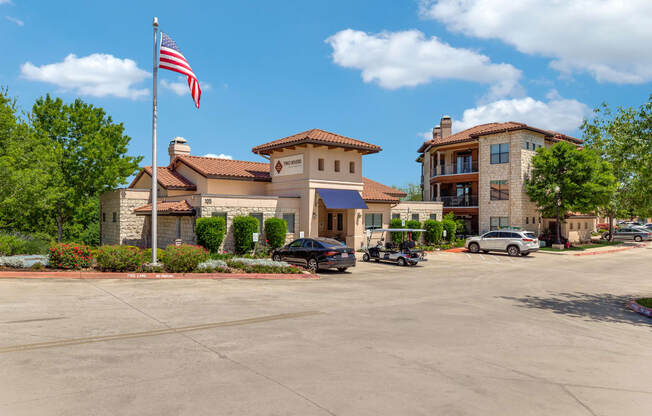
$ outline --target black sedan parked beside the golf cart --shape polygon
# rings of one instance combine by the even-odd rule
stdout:
[[[300,238],[274,250],[272,260],[298,264],[314,271],[337,269],[343,272],[355,266],[355,252],[330,238]]]

